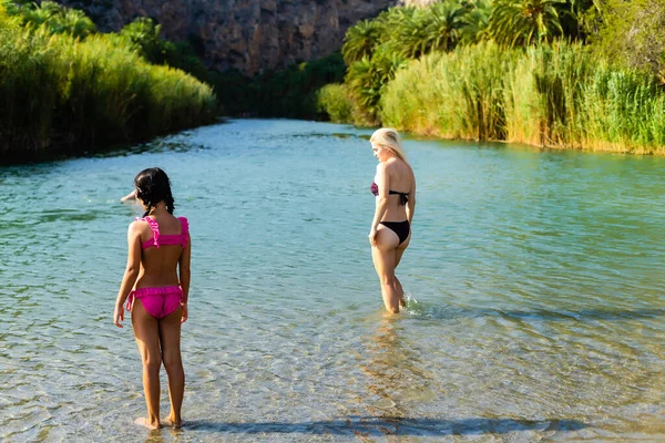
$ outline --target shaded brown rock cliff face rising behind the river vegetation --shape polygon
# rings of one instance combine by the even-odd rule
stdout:
[[[150,17],[170,40],[188,40],[211,68],[249,75],[341,48],[346,30],[398,0],[64,0],[101,31]]]

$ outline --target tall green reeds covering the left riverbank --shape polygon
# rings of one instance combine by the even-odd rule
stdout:
[[[0,8],[0,162],[146,140],[212,122],[215,95],[115,34],[27,29]]]

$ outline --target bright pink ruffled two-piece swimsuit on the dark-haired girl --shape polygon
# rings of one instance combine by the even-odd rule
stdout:
[[[160,235],[160,225],[150,217],[136,220],[147,222],[153,231],[153,238],[141,244],[142,249],[158,248],[160,246],[187,246],[190,241],[190,224],[185,217],[177,217],[181,222],[181,233],[173,235]],[[141,300],[143,308],[151,316],[161,319],[174,312],[183,300],[183,290],[180,286],[163,286],[158,288],[136,288],[127,297],[126,309],[132,310],[134,299]]]

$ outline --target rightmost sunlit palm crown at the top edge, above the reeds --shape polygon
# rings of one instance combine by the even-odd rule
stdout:
[[[556,6],[565,0],[499,0],[490,16],[490,33],[499,44],[551,42],[563,30]]]

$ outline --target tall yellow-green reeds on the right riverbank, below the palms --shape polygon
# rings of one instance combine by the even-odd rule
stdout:
[[[380,107],[383,125],[447,138],[665,154],[655,80],[579,44],[429,54],[396,73]]]

